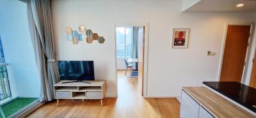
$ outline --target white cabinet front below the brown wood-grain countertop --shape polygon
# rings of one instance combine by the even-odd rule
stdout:
[[[182,90],[180,103],[180,118],[214,118],[200,103]]]

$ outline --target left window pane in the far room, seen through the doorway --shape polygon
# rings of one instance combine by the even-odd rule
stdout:
[[[116,28],[116,56],[118,59],[125,58],[125,29]]]

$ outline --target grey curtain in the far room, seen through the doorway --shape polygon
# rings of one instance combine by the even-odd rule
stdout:
[[[138,36],[139,27],[132,27],[132,58],[138,58]],[[135,70],[138,70],[138,63],[135,63]]]

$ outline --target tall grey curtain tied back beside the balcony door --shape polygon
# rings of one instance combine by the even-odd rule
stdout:
[[[29,0],[28,17],[36,55],[36,64],[41,78],[41,102],[54,99],[53,84],[60,82],[55,61],[52,36],[51,6],[49,0]]]

